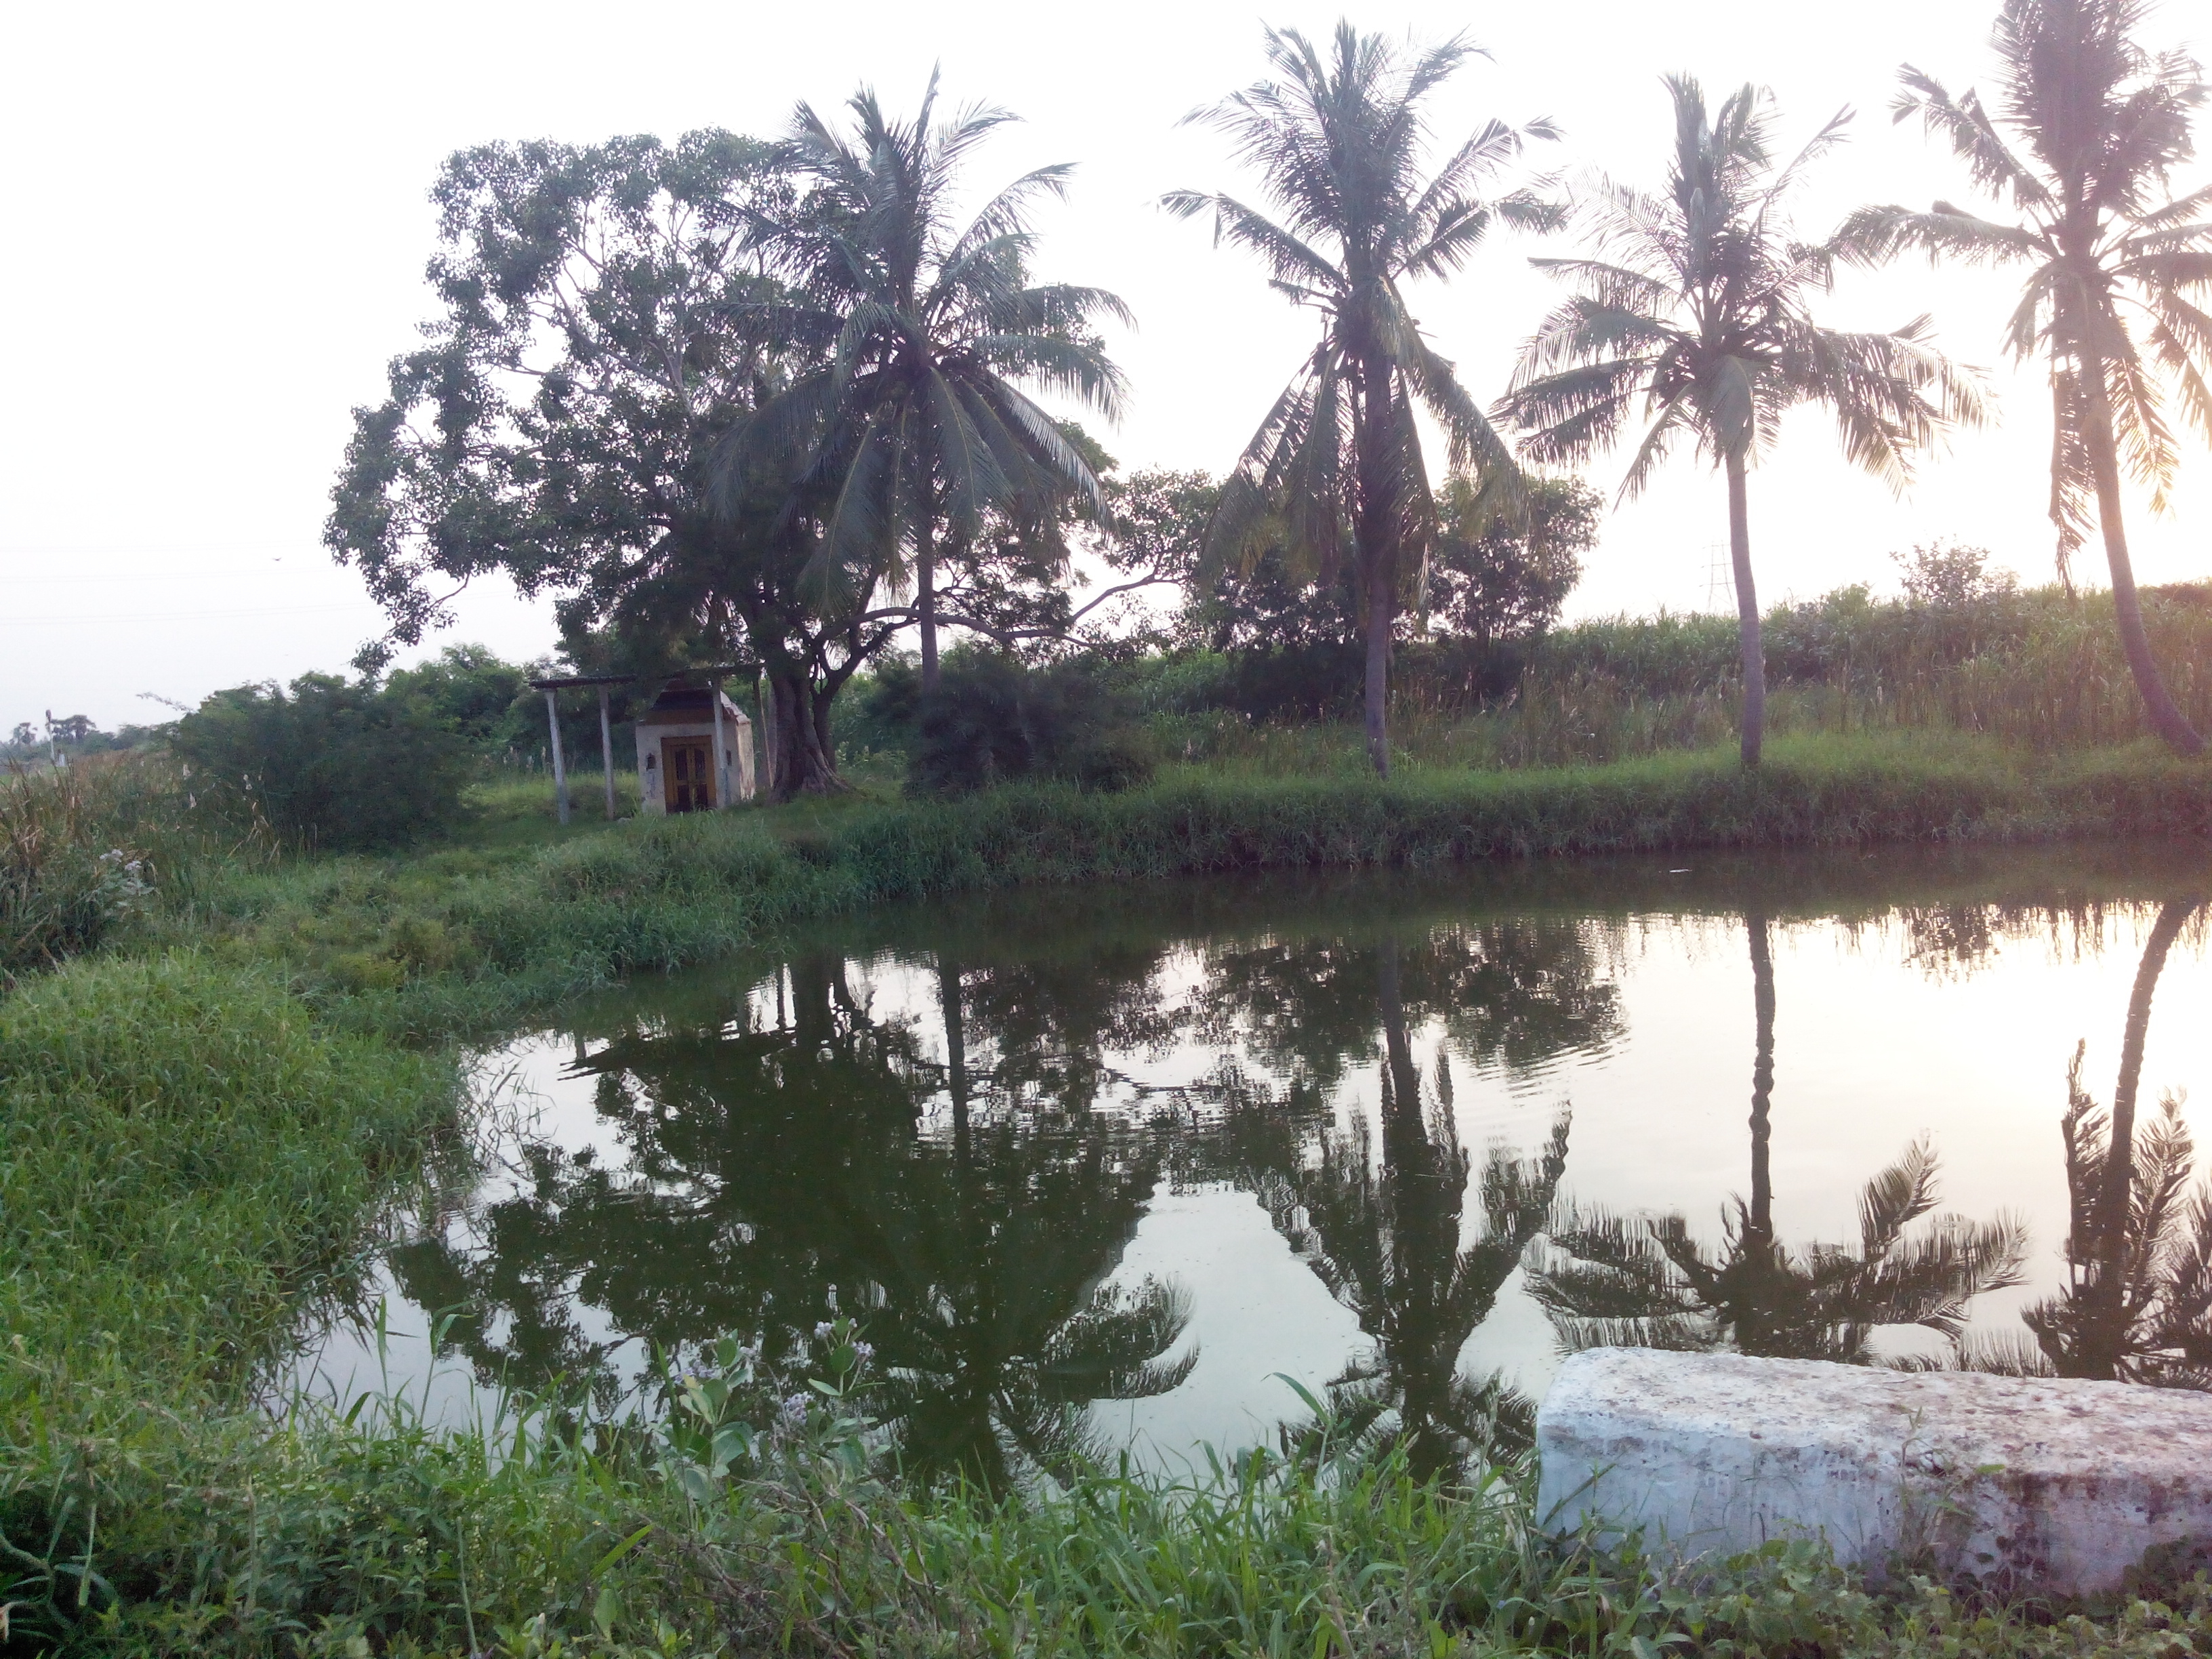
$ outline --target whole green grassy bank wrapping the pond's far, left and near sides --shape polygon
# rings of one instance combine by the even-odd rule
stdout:
[[[1292,741],[1285,737],[1285,743]],[[2095,1626],[1871,1597],[1809,1555],[1663,1579],[1540,1540],[1520,1471],[1261,1460],[1181,1489],[1068,1469],[914,1493],[852,1360],[688,1396],[712,1420],[498,1436],[252,1402],[301,1296],[465,1133],[456,1037],[832,916],[1015,883],[1595,852],[2212,834],[2212,768],[1958,734],[1473,772],[1245,757],[1126,794],[1006,790],[551,823],[489,801],[405,858],[201,856],[0,998],[0,1604],[82,1652],[2212,1652],[2212,1590]],[[150,832],[148,832],[150,834]],[[181,843],[179,843],[181,845]],[[184,858],[186,852],[164,854]],[[1011,902],[1011,900],[1009,900]],[[86,942],[97,942],[86,938]],[[812,1394],[794,1420],[787,1400]],[[524,1431],[520,1425],[526,1422]],[[745,1431],[734,1433],[743,1422]],[[714,1429],[732,1433],[714,1438]],[[719,1447],[719,1451],[717,1451]]]

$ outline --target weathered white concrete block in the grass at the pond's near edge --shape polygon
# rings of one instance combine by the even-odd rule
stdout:
[[[1880,1568],[2059,1595],[2154,1544],[2212,1544],[2212,1396],[1601,1347],[1537,1409],[1537,1517],[1641,1526],[1672,1559],[1818,1535]]]

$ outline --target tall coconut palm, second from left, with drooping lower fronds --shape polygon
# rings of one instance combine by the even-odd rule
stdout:
[[[1422,177],[1425,100],[1473,53],[1449,40],[1407,55],[1345,22],[1323,58],[1294,29],[1270,29],[1276,80],[1188,119],[1230,135],[1279,217],[1201,190],[1164,199],[1179,219],[1212,212],[1214,241],[1252,250],[1281,294],[1321,312],[1321,343],[1221,493],[1208,553],[1250,564],[1279,544],[1301,575],[1334,584],[1349,551],[1367,628],[1367,754],[1383,776],[1391,626],[1400,602],[1420,591],[1436,529],[1416,405],[1442,425],[1453,467],[1509,495],[1520,478],[1451,363],[1422,336],[1402,288],[1455,272],[1493,223],[1557,219],[1528,190],[1475,195],[1526,139],[1555,137],[1544,122],[1489,122]]]

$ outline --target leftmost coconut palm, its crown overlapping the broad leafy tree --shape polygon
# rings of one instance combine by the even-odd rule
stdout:
[[[803,186],[783,215],[752,212],[752,237],[790,294],[759,305],[763,336],[814,367],[739,420],[714,456],[726,511],[763,480],[785,515],[816,520],[805,580],[825,608],[858,608],[878,582],[911,584],[922,688],[938,677],[940,555],[998,515],[1060,544],[1071,495],[1104,513],[1097,476],[1018,383],[1119,416],[1121,372],[1099,319],[1128,323],[1099,288],[1033,283],[1040,199],[1068,166],[1024,173],[967,223],[951,219],[969,153],[1013,119],[971,106],[940,122],[929,77],[920,113],[894,122],[856,93],[843,135],[801,104],[785,164]]]

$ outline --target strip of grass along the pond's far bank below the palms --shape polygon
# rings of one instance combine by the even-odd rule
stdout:
[[[226,960],[281,962],[349,1026],[425,1040],[814,918],[1015,883],[2146,834],[2212,834],[2212,765],[2150,743],[2035,761],[1927,732],[1787,739],[1750,774],[1725,750],[1517,772],[1409,765],[1389,783],[1186,765],[1124,794],[869,794],[290,865],[237,878],[170,927]]]

